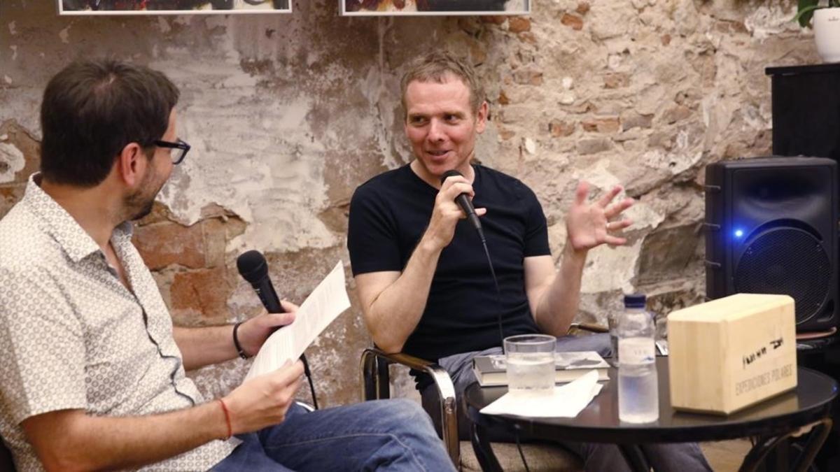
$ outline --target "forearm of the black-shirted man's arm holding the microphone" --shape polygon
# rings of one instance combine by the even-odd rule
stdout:
[[[370,304],[367,320],[374,343],[386,352],[399,352],[417,328],[428,301],[442,249],[420,240],[402,274]]]

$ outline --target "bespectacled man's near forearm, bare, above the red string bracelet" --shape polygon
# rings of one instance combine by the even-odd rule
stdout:
[[[49,422],[36,425],[31,422]],[[28,424],[29,423],[29,424]],[[48,436],[28,437],[48,470],[134,469],[183,454],[228,434],[218,401],[145,417],[92,417],[81,410],[24,421]]]

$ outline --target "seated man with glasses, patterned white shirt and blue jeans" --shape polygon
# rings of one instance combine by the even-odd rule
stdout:
[[[185,375],[256,354],[267,313],[173,327],[131,220],[186,157],[163,74],[76,62],[41,106],[41,171],[0,221],[0,435],[19,470],[452,470],[408,401],[303,412],[302,365],[204,399]]]

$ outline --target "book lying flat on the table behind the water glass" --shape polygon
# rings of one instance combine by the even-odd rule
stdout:
[[[595,351],[554,353],[554,382],[570,382],[597,370],[598,380],[609,380],[610,365]],[[504,354],[479,355],[473,358],[475,378],[481,386],[507,385],[507,363]]]

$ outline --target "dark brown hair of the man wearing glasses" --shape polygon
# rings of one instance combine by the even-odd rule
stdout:
[[[178,96],[175,84],[145,66],[109,59],[66,66],[50,79],[41,103],[42,175],[96,186],[126,144],[149,149],[166,133]]]

